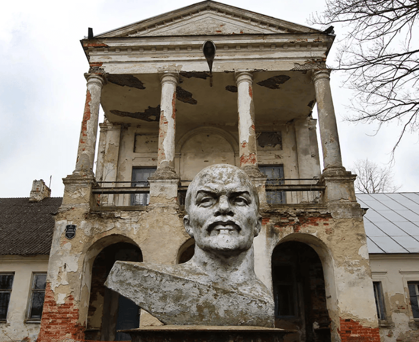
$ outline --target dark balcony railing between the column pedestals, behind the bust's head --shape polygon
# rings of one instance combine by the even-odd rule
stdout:
[[[181,181],[178,201],[185,205],[185,196],[191,181]],[[267,179],[266,202],[272,206],[295,206],[321,202],[325,185],[317,179]],[[98,182],[92,189],[96,206],[91,211],[141,211],[150,201],[147,181]]]

